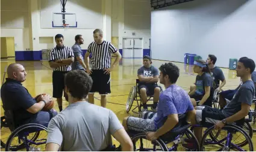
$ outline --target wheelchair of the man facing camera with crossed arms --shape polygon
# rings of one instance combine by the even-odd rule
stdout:
[[[136,79],[136,86],[131,87],[127,102],[126,102],[126,113],[129,113],[129,111],[131,110],[131,107],[133,107],[133,101],[137,101],[137,105],[136,107],[134,107],[134,109],[132,110],[133,113],[140,113],[142,111],[142,100],[140,98],[140,90],[139,90],[139,83],[140,80]],[[160,93],[163,92],[163,87],[160,87]],[[153,101],[154,95],[150,95],[148,96],[148,101]],[[147,104],[149,107],[152,108],[153,104]],[[136,110],[136,108],[138,108],[139,112],[136,112],[134,110]]]

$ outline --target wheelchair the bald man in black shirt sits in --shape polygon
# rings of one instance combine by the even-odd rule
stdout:
[[[10,130],[10,136],[8,136],[5,142],[2,138],[9,133],[2,133],[2,130]],[[43,133],[45,131],[45,133]],[[39,136],[45,136],[39,139]],[[47,139],[47,127],[29,123],[21,126],[17,126],[14,123],[14,117],[12,111],[5,111],[4,116],[1,117],[1,148],[5,148],[5,151],[42,151],[45,148]],[[15,142],[16,141],[16,142]],[[16,144],[16,145],[14,145]],[[40,147],[38,147],[40,145]]]

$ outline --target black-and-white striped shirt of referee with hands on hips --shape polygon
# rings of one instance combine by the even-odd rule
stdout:
[[[116,53],[117,49],[111,42],[103,41],[101,44],[92,42],[87,51],[92,53],[92,69],[110,68],[111,53]]]

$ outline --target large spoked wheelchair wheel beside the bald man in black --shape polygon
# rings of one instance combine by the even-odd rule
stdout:
[[[41,135],[44,137],[42,138]],[[27,151],[44,151],[46,139],[47,128],[45,126],[35,123],[25,124],[11,133],[5,145],[5,151],[17,151],[23,149]],[[14,145],[14,143],[18,144]]]

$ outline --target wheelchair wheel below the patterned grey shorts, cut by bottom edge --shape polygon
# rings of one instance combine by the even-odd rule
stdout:
[[[131,141],[133,141],[134,151],[167,151],[167,147],[161,139],[149,141],[146,139],[146,133],[133,136]]]

